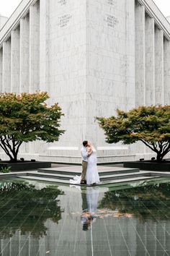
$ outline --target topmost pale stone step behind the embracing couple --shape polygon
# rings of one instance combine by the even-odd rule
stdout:
[[[104,166],[101,168],[98,168],[99,171],[99,176],[103,175],[111,175],[111,174],[128,174],[128,173],[137,173],[140,170],[138,168],[108,168]],[[71,176],[76,176],[76,175],[81,175],[81,168],[77,168],[73,170],[70,170],[70,168],[40,168],[37,170],[38,173],[49,173],[49,174],[63,174],[63,175],[71,175]]]

